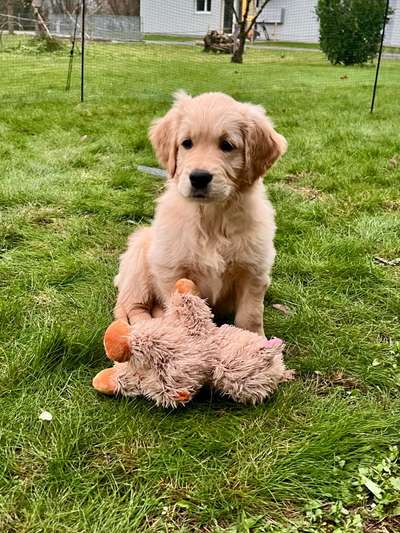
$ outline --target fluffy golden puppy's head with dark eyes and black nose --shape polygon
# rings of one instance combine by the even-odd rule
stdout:
[[[287,148],[261,106],[222,93],[177,93],[151,126],[150,140],[180,194],[199,202],[224,201],[248,188]]]

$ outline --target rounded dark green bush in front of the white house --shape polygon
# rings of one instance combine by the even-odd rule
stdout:
[[[379,50],[386,0],[318,0],[320,46],[329,61],[354,65]]]

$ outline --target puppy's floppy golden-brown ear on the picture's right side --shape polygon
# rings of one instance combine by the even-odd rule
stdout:
[[[287,150],[285,137],[274,130],[264,108],[245,106],[245,166],[250,183],[262,177]]]

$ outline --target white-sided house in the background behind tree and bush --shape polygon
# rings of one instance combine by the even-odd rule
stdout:
[[[255,0],[258,5],[263,0]],[[232,4],[240,0],[141,0],[144,33],[203,36],[209,30],[231,31]],[[270,0],[259,17],[261,39],[317,43],[317,0]],[[385,44],[400,46],[400,0],[390,0],[394,10],[386,28]]]

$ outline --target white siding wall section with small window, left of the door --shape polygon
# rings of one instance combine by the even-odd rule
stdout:
[[[203,36],[221,28],[222,4],[211,0],[211,13],[196,13],[195,0],[141,0],[142,31]]]

